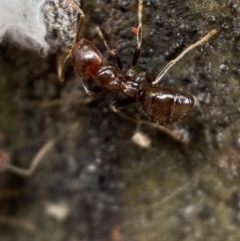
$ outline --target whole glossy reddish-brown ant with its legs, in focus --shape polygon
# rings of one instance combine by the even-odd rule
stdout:
[[[80,14],[80,20],[75,41],[70,54],[63,62],[63,68],[66,61],[71,58],[75,71],[80,77],[83,87],[88,95],[99,95],[99,92],[91,91],[89,89],[88,81],[90,80],[94,80],[96,84],[101,87],[101,92],[106,90],[121,92],[127,98],[115,102],[112,105],[112,110],[115,113],[131,120],[157,127],[175,140],[180,140],[181,138],[179,136],[173,133],[170,129],[166,128],[164,125],[185,119],[193,111],[196,104],[196,98],[185,91],[169,87],[160,87],[159,83],[167,71],[187,52],[206,42],[217,31],[212,30],[198,42],[185,49],[177,58],[170,61],[159,73],[156,79],[152,81],[147,75],[145,75],[145,73],[135,76],[135,67],[140,57],[142,45],[143,0],[139,0],[138,3],[137,46],[133,54],[131,68],[126,74],[122,73],[123,66],[119,56],[115,51],[109,48],[100,28],[97,27],[96,29],[99,36],[103,40],[104,45],[110,52],[111,56],[116,60],[118,68],[113,66],[102,66],[103,58],[100,51],[93,43],[80,35],[85,20],[84,12],[76,5],[74,0],[68,0],[68,2]],[[60,70],[60,80],[64,79],[63,68]],[[144,82],[147,82],[150,87],[143,88],[142,84]],[[151,121],[144,120],[138,115],[130,114],[121,109],[122,107],[130,105],[136,101],[141,104],[144,114]]]

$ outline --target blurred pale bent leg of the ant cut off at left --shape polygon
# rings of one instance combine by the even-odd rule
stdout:
[[[40,162],[43,160],[44,156],[53,148],[55,143],[56,143],[55,139],[48,140],[43,145],[43,147],[37,152],[28,169],[16,167],[14,165],[11,165],[10,163],[7,163],[5,167],[6,170],[23,177],[31,176],[36,170],[36,168],[38,167],[38,165],[40,164]]]

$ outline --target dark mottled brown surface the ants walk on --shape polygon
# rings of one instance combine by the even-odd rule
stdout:
[[[85,1],[83,9],[84,36],[114,65],[96,35],[99,25],[127,71],[137,1]],[[199,101],[184,122],[170,125],[187,137],[184,144],[111,112],[121,99],[116,93],[84,103],[72,68],[65,83],[58,81],[57,55],[2,44],[1,147],[27,167],[46,140],[57,144],[33,176],[1,174],[0,240],[239,240],[239,10],[237,1],[144,1],[139,72],[157,76],[218,30],[164,77],[165,86]],[[64,101],[42,107],[56,99]],[[132,142],[139,128],[149,148]]]

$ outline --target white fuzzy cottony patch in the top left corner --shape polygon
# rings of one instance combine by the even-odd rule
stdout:
[[[41,8],[45,0],[0,0],[0,42],[7,36],[25,48],[46,54],[46,26]]]

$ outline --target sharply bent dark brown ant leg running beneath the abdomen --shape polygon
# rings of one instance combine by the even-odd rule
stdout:
[[[111,106],[111,109],[115,113],[117,113],[117,114],[119,114],[119,115],[121,115],[121,116],[123,116],[127,119],[135,121],[136,123],[139,123],[139,124],[144,124],[144,125],[148,125],[148,126],[151,126],[153,128],[156,128],[156,129],[160,130],[161,132],[165,133],[166,135],[170,136],[174,141],[183,143],[183,138],[179,134],[177,134],[176,132],[168,129],[167,127],[156,124],[156,123],[153,123],[153,122],[148,121],[148,120],[144,120],[139,115],[130,114],[130,113],[120,109],[122,107],[131,105],[134,102],[135,102],[135,100],[132,100],[132,99],[124,99],[124,100],[113,103],[113,105]]]

